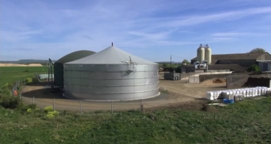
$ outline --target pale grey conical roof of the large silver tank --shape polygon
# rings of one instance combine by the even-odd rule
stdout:
[[[140,58],[138,56],[134,56],[129,54],[115,46],[107,47],[97,53],[86,56],[81,59],[77,59],[71,62],[67,62],[69,64],[125,64],[125,61],[131,61],[136,64],[157,64],[155,62]]]

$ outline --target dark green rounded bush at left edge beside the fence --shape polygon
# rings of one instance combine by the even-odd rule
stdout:
[[[0,105],[5,108],[17,108],[19,103],[20,99],[17,96],[4,95],[0,99]]]

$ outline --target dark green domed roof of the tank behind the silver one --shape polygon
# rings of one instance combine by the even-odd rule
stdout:
[[[78,50],[59,58],[55,63],[66,63],[96,53],[90,50]]]

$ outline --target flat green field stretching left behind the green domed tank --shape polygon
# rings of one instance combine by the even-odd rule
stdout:
[[[35,73],[48,73],[48,66],[1,66],[0,86],[6,83],[13,84],[17,80],[33,77]]]

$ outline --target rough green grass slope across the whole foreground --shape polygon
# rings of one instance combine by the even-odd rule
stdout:
[[[271,143],[271,96],[206,109],[46,118],[42,110],[1,107],[0,143]]]

